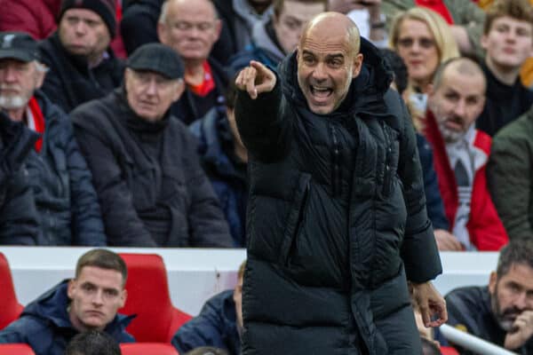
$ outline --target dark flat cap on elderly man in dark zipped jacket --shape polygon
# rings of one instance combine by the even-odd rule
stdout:
[[[172,80],[182,78],[185,70],[178,53],[161,43],[141,45],[131,53],[126,67],[133,70],[149,70]]]

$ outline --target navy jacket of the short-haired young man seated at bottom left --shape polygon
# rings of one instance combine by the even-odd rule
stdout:
[[[78,334],[68,319],[68,280],[28,304],[8,327],[0,331],[0,343],[27,343],[36,355],[63,355],[68,342]],[[132,317],[117,314],[105,329],[119,343],[133,343],[135,339],[125,328]]]

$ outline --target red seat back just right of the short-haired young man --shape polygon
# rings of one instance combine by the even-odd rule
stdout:
[[[127,327],[137,342],[170,343],[192,317],[171,303],[163,258],[155,254],[120,254],[128,266],[126,304],[119,312],[137,314]]]

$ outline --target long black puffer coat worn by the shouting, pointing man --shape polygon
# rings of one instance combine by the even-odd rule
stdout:
[[[410,118],[378,52],[332,114],[310,112],[296,55],[235,112],[249,149],[243,353],[414,355],[406,277],[442,272]]]

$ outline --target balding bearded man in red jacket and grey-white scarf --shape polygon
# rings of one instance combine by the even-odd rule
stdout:
[[[428,95],[425,135],[434,147],[446,217],[466,250],[499,250],[507,242],[504,225],[487,189],[491,140],[474,122],[485,103],[486,81],[471,59],[450,59],[434,76]]]

